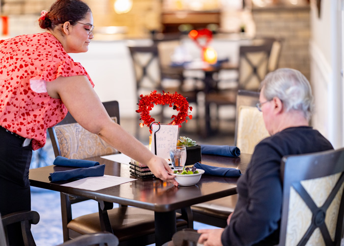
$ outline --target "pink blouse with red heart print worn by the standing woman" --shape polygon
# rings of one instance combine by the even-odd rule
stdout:
[[[76,75],[86,75],[94,86],[50,33],[0,40],[0,125],[32,139],[33,150],[43,147],[47,128],[67,114],[62,101],[49,96],[46,83]]]

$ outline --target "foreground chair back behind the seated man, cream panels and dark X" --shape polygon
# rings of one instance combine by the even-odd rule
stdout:
[[[344,215],[344,148],[285,156],[280,246],[340,246]]]

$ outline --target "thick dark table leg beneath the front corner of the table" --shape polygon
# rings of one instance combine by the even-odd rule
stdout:
[[[175,211],[154,212],[155,220],[155,245],[162,246],[172,240],[173,234],[177,231]]]

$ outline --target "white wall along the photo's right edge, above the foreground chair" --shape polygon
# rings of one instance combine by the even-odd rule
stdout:
[[[340,1],[322,1],[320,18],[315,0],[311,2],[311,84],[316,107],[312,123],[335,148],[344,146]]]

